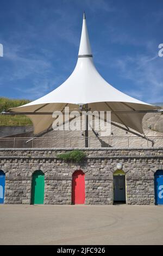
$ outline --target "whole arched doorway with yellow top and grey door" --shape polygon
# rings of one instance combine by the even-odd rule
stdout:
[[[114,203],[126,203],[126,176],[123,170],[113,174]]]

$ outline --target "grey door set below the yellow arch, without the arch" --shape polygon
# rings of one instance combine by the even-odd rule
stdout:
[[[114,201],[126,201],[125,175],[113,176],[114,181]]]

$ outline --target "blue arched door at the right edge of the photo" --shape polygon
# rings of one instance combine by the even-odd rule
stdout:
[[[163,204],[163,170],[157,170],[154,175],[155,204]]]

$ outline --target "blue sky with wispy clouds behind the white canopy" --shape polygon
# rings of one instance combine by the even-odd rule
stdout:
[[[136,99],[163,102],[162,0],[1,0],[0,96],[34,100],[70,76],[84,10],[105,80]]]

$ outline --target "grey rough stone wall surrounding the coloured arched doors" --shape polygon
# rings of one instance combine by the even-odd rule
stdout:
[[[154,204],[154,173],[162,169],[163,149],[82,149],[82,163],[57,158],[72,149],[1,149],[5,203],[30,204],[32,174],[45,173],[45,204],[71,204],[72,174],[85,173],[85,204],[113,203],[113,173],[118,162],[126,173],[127,204]]]

